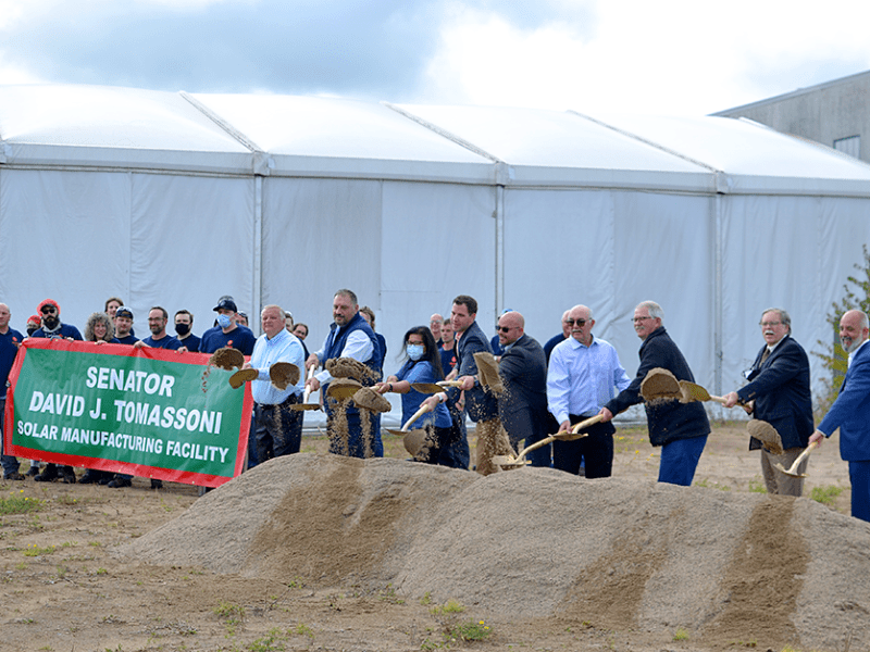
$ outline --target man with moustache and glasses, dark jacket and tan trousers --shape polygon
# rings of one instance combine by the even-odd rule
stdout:
[[[737,391],[725,394],[725,408],[737,403],[755,418],[768,422],[782,438],[783,453],[761,449],[757,439],[749,440],[749,450],[761,449],[761,474],[768,493],[800,496],[804,478],[778,472],[773,465],[788,468],[807,448],[812,434],[812,393],[809,386],[809,359],[803,347],[792,338],[792,318],[779,308],[766,310],[761,315],[761,334],[765,346],[756,355],[749,380]],[[799,473],[806,472],[805,460]]]

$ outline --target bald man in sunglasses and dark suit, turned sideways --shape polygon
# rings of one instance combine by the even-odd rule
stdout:
[[[501,362],[498,373],[505,390],[498,400],[498,414],[517,450],[525,439],[531,446],[547,437],[547,361],[538,341],[525,335],[525,319],[507,312],[498,319]],[[550,446],[529,454],[533,466],[550,465]]]

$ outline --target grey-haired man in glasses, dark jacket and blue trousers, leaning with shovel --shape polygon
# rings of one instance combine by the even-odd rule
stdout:
[[[601,408],[605,422],[623,410],[643,402],[641,384],[654,368],[671,372],[678,380],[695,381],[686,359],[664,329],[664,311],[655,301],[644,301],[634,309],[634,331],[641,344],[641,367],[631,385]],[[660,446],[659,482],[688,487],[695,477],[698,460],[707,444],[710,422],[701,403],[664,401],[646,404],[649,443]]]

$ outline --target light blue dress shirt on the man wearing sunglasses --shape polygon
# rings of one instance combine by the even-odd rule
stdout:
[[[585,347],[569,337],[550,355],[547,408],[559,424],[568,421],[569,414],[598,414],[605,403],[629,385],[631,379],[610,343],[593,337]]]

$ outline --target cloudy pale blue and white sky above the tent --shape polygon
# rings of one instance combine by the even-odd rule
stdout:
[[[703,115],[870,68],[870,2],[0,0],[0,84]]]

